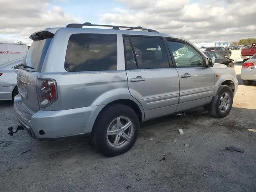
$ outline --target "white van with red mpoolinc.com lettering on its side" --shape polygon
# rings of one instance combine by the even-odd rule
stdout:
[[[17,43],[0,43],[0,65],[26,56],[30,45]]]

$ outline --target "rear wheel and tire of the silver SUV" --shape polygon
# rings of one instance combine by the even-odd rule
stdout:
[[[118,118],[120,126],[118,126]],[[128,122],[132,124],[122,132],[120,127],[128,125]],[[117,156],[132,148],[138,138],[139,128],[139,118],[132,108],[122,104],[108,106],[95,122],[92,130],[92,143],[96,150],[105,156]],[[107,132],[112,135],[107,135]],[[124,134],[129,136],[130,140],[125,139]],[[116,142],[117,140],[118,142]]]

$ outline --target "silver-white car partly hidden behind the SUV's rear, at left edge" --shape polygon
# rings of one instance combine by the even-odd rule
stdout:
[[[0,100],[13,100],[18,94],[17,70],[24,58],[0,64]]]

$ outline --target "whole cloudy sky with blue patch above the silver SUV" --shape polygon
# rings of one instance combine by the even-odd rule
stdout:
[[[0,0],[0,42],[69,23],[142,26],[192,42],[256,38],[256,0]],[[197,37],[197,38],[195,38]]]

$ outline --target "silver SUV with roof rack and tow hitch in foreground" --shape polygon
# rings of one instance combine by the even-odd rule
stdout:
[[[14,98],[20,125],[8,128],[10,135],[21,129],[40,140],[89,134],[102,154],[116,156],[132,148],[141,122],[200,106],[223,118],[232,108],[234,69],[214,65],[180,36],[84,23],[30,39]]]

